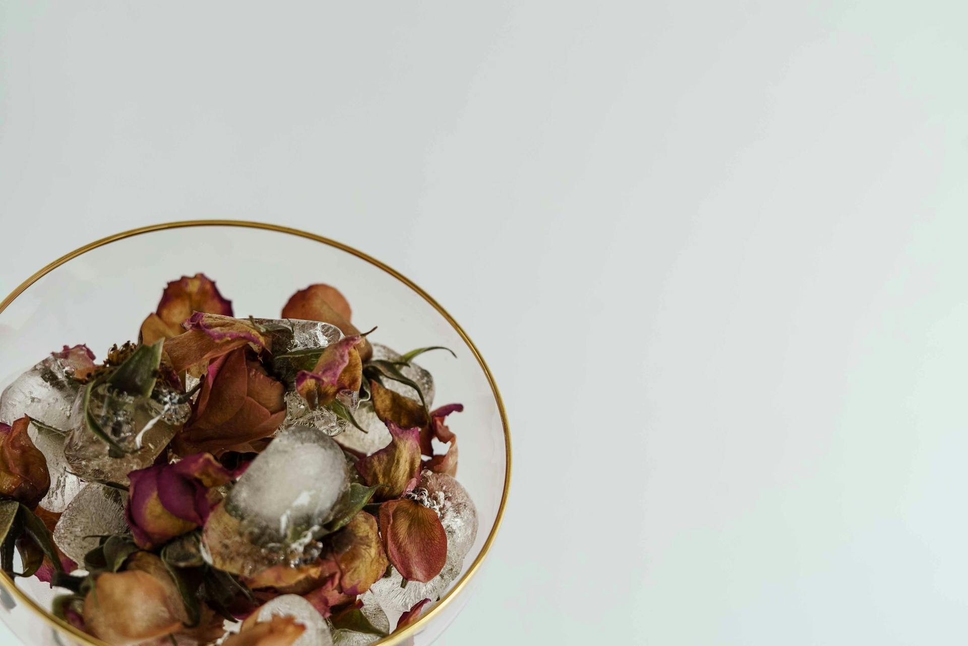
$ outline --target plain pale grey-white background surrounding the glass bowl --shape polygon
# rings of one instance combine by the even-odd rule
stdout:
[[[198,218],[415,279],[488,358],[515,449],[444,646],[963,643],[966,25],[886,0],[3,0],[0,294]]]

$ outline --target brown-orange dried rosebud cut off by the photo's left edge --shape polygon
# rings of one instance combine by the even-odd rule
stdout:
[[[33,509],[50,488],[47,460],[27,434],[30,418],[0,423],[0,495]]]

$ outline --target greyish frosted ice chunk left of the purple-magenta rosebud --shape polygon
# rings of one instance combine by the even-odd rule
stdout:
[[[110,486],[89,483],[75,496],[54,527],[54,543],[78,566],[84,554],[98,546],[98,537],[128,531],[124,508],[128,494]]]

